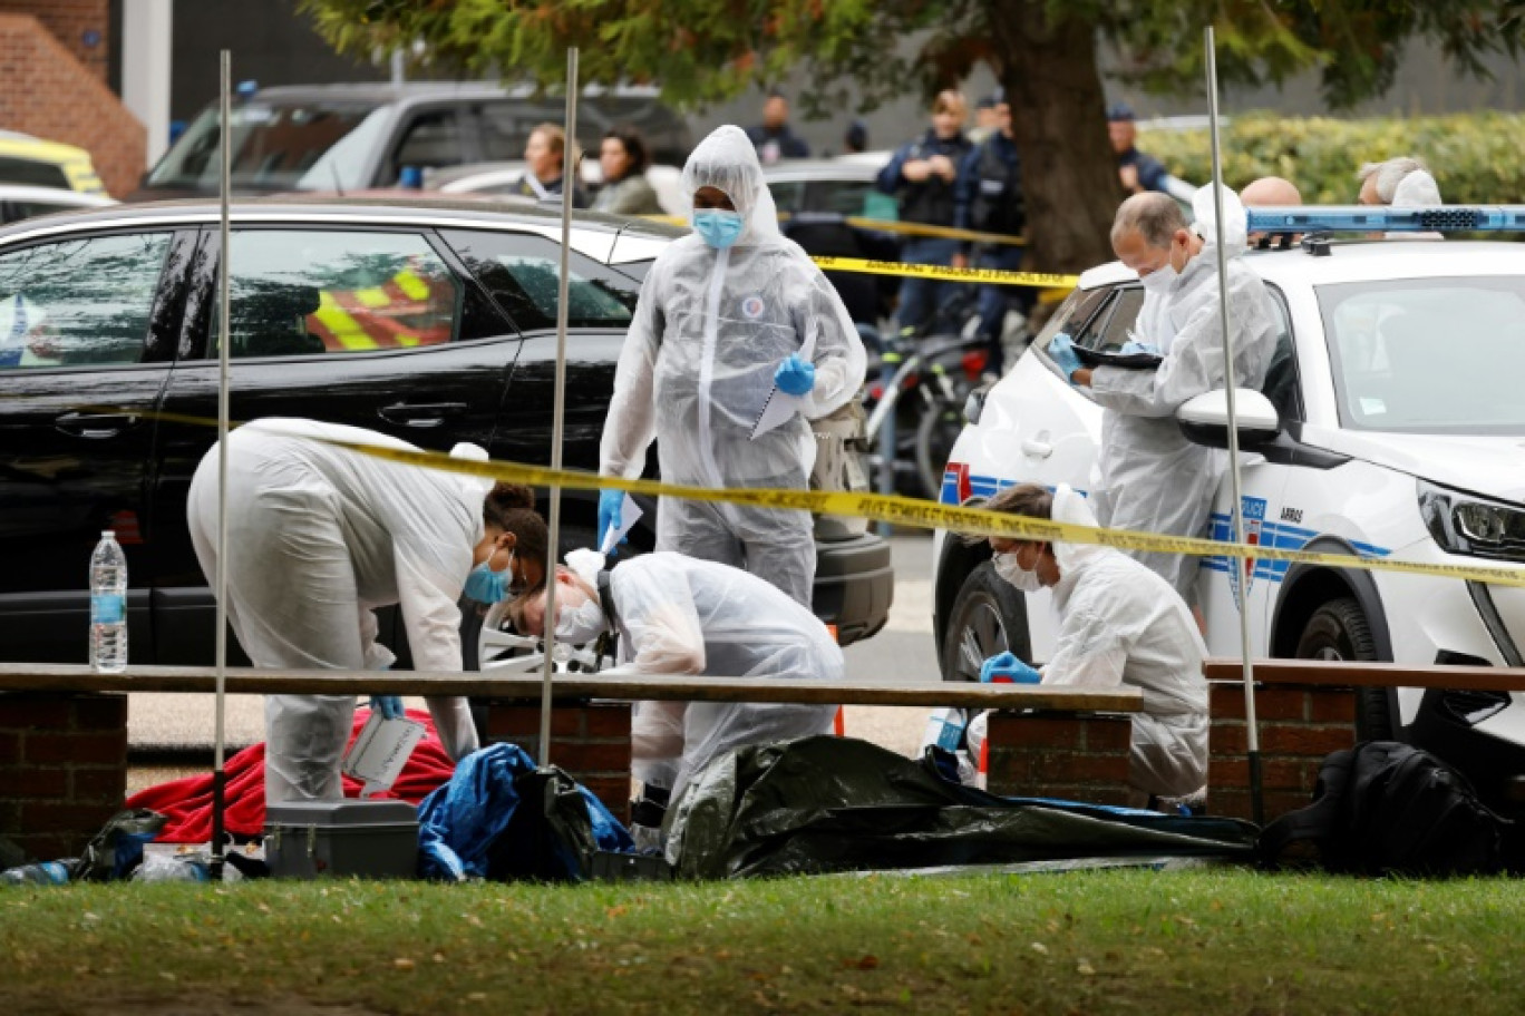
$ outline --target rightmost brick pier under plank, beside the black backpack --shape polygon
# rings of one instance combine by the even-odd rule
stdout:
[[[1244,685],[1211,682],[1208,810],[1250,818]],[[1261,685],[1255,693],[1266,821],[1313,801],[1319,765],[1356,743],[1356,692],[1322,685]]]

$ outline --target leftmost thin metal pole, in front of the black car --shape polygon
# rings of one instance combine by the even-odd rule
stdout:
[[[218,189],[221,190],[221,257],[217,268],[217,733],[212,759],[212,858],[210,876],[223,880],[223,807],[227,797],[227,772],[223,768],[223,745],[226,740],[224,707],[227,702],[227,419],[229,419],[229,369],[227,369],[227,259],[229,259],[229,186],[232,181],[232,55],[224,49],[221,59],[223,78],[223,143]]]

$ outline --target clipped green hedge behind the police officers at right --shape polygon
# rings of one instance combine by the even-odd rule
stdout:
[[[1514,204],[1525,201],[1520,137],[1522,114],[1336,120],[1250,113],[1223,131],[1223,181],[1238,189],[1257,177],[1286,177],[1307,204],[1353,204],[1362,163],[1415,155],[1447,203]],[[1206,129],[1144,129],[1138,145],[1182,180],[1212,177]]]

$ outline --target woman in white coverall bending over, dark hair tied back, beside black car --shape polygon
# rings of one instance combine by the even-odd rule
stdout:
[[[258,667],[381,670],[374,608],[396,603],[418,670],[461,670],[468,573],[506,550],[491,480],[384,462],[314,439],[416,451],[386,434],[299,419],[265,419],[227,436],[227,620]],[[217,583],[218,457],[191,481],[197,559]],[[474,445],[453,455],[486,458]],[[544,548],[540,548],[544,554]],[[522,565],[509,565],[523,570]],[[429,698],[445,751],[477,748],[462,698]],[[265,801],[343,797],[340,759],[352,695],[265,696]],[[378,704],[401,713],[401,704]]]

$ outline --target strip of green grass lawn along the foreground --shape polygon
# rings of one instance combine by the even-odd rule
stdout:
[[[0,1016],[1513,1014],[1522,932],[1522,882],[1232,870],[76,885],[0,893]]]

